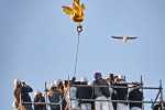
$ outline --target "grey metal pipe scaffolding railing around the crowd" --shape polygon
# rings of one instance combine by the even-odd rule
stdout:
[[[127,82],[128,85],[132,85],[132,82]],[[141,91],[142,91],[142,94],[144,92],[144,89],[151,89],[151,90],[158,90],[158,92],[157,92],[157,95],[156,95],[156,98],[153,100],[151,100],[151,101],[144,101],[144,98],[143,98],[143,100],[142,101],[135,101],[135,100],[109,100],[109,99],[107,99],[107,100],[98,100],[98,99],[74,99],[74,98],[70,98],[70,87],[92,87],[92,88],[95,88],[95,87],[109,87],[109,88],[139,88],[139,89],[141,89]],[[108,102],[127,102],[127,103],[130,103],[130,102],[141,102],[142,103],[142,110],[144,110],[144,103],[151,103],[152,106],[151,106],[151,108],[152,108],[152,110],[154,110],[154,106],[156,105],[156,103],[161,103],[161,107],[162,108],[164,108],[164,102],[163,102],[163,87],[162,87],[162,80],[160,80],[160,87],[143,87],[143,80],[142,80],[142,76],[141,76],[141,81],[140,81],[140,87],[123,87],[123,86],[87,86],[87,85],[73,85],[73,84],[70,84],[69,82],[69,78],[68,78],[68,85],[67,85],[67,91],[66,92],[68,92],[68,101],[67,101],[67,105],[66,105],[66,107],[63,107],[63,100],[65,100],[65,95],[64,95],[64,97],[62,98],[62,97],[59,97],[59,102],[57,102],[57,103],[53,103],[53,102],[47,102],[47,92],[50,91],[50,90],[47,90],[47,88],[46,88],[46,82],[45,82],[45,90],[44,90],[46,94],[45,94],[45,102],[42,102],[42,105],[46,105],[46,110],[48,110],[48,106],[51,106],[51,105],[59,105],[59,107],[61,107],[61,110],[63,110],[63,108],[65,108],[64,110],[73,110],[72,108],[70,108],[70,101],[72,100],[77,100],[77,101],[108,101]],[[65,94],[66,94],[65,92]],[[144,95],[144,94],[143,94]],[[160,101],[157,101],[157,99],[158,99],[158,97],[161,97],[162,98],[162,101],[160,102]],[[22,98],[21,98],[21,95],[20,95],[20,106],[21,106],[21,110],[22,110],[22,105],[28,105],[28,103],[30,103],[30,105],[35,105],[35,103],[41,103],[41,102],[23,102],[23,100],[22,100]],[[75,110],[75,109],[74,109]],[[80,109],[79,109],[80,110]],[[164,109],[163,109],[164,110]]]

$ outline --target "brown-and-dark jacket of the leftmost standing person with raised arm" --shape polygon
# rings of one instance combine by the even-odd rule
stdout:
[[[29,92],[32,92],[33,89],[30,86],[22,87],[18,86],[14,90],[14,97],[16,98],[18,103],[20,103],[20,95],[21,99],[24,102],[32,102],[31,97],[29,96]]]

